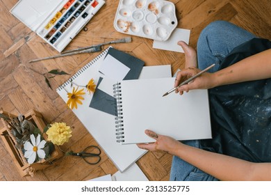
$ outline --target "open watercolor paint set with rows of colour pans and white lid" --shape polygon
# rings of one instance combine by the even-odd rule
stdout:
[[[62,52],[104,3],[104,0],[21,0],[10,13]]]

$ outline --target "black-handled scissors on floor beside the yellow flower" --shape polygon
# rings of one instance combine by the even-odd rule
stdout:
[[[101,150],[97,146],[88,146],[80,153],[70,153],[72,156],[81,157],[88,164],[98,164],[101,161]]]

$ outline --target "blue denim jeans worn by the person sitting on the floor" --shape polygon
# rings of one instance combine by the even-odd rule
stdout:
[[[220,70],[221,62],[231,50],[252,38],[256,38],[256,36],[229,22],[216,21],[208,24],[200,34],[197,42],[199,69],[203,70],[208,65],[215,63],[215,66],[208,72]],[[199,140],[183,141],[183,143],[195,148],[201,148]],[[217,180],[217,178],[174,156],[170,180],[213,181]]]

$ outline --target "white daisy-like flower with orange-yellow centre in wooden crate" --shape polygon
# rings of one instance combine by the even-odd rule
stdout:
[[[26,141],[24,143],[24,150],[26,150],[26,152],[24,153],[24,157],[27,158],[27,162],[29,164],[32,164],[33,162],[35,162],[37,153],[40,159],[44,159],[45,152],[44,150],[42,150],[42,148],[44,148],[46,141],[45,140],[40,141],[40,134],[38,134],[37,139],[35,139],[35,136],[31,134],[30,139],[31,143],[30,141]]]

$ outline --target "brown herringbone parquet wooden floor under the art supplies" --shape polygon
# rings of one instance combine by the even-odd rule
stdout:
[[[81,31],[67,49],[85,47],[117,38],[113,20],[119,1],[106,1],[106,5],[87,24],[88,31]],[[204,26],[215,20],[227,20],[271,39],[271,1],[269,0],[172,0],[176,6],[178,28],[190,29],[190,45],[196,47],[199,33]],[[39,36],[35,35],[9,10],[16,0],[0,0],[0,107],[13,114],[25,114],[30,109],[42,113],[47,123],[65,122],[72,126],[73,134],[63,150],[81,150],[95,144],[94,139],[83,127],[65,102],[56,93],[56,88],[69,76],[49,79],[51,88],[42,74],[59,69],[73,75],[97,54],[67,56],[62,59],[28,63],[31,59],[58,54]],[[221,35],[223,36],[223,35]],[[145,65],[171,64],[172,72],[183,68],[184,55],[152,48],[153,40],[133,36],[129,44],[113,45],[145,61]],[[164,153],[147,153],[138,166],[149,180],[169,180],[172,156]],[[0,180],[89,180],[117,171],[113,163],[103,155],[97,165],[88,165],[81,159],[62,157],[49,168],[35,173],[34,177],[20,177],[10,155],[0,139]]]

